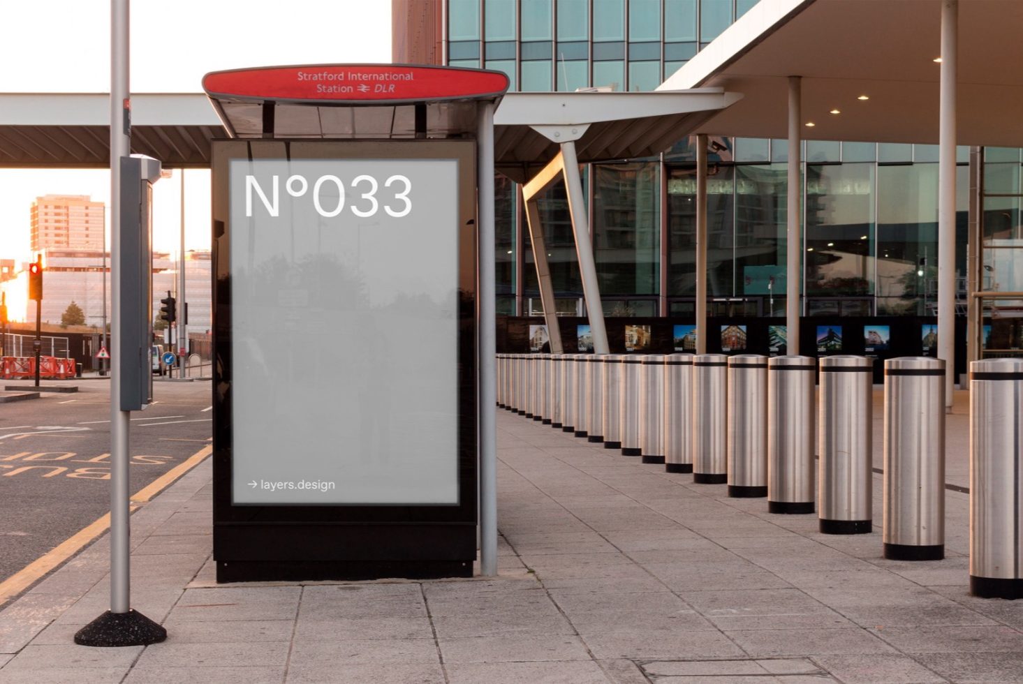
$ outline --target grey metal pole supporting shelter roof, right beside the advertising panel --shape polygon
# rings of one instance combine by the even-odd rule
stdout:
[[[494,104],[480,107],[477,130],[479,154],[479,268],[480,268],[480,572],[497,575],[497,428],[494,403],[494,355],[497,353],[494,312]]]

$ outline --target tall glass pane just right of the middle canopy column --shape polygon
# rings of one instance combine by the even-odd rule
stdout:
[[[807,297],[874,291],[873,164],[806,167]]]

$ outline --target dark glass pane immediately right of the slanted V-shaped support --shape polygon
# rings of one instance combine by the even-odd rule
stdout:
[[[602,294],[657,294],[661,255],[657,163],[593,166],[593,250]]]

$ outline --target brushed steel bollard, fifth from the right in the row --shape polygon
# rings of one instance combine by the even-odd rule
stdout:
[[[728,496],[767,496],[767,357],[728,358]]]

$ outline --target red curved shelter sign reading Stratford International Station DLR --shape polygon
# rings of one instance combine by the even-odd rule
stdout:
[[[501,72],[401,64],[267,66],[203,77],[211,97],[305,102],[490,99],[508,85]]]

